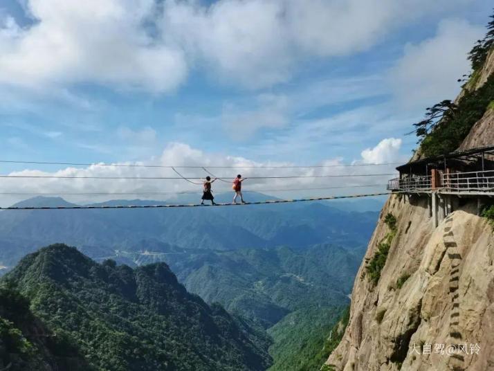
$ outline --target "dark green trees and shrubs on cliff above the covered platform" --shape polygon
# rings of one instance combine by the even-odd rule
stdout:
[[[494,16],[491,16],[494,19]],[[470,132],[473,125],[484,116],[494,99],[494,75],[479,89],[473,89],[479,79],[480,69],[494,46],[494,21],[489,22],[488,33],[470,51],[473,74],[464,86],[464,95],[457,103],[450,100],[433,105],[426,117],[414,124],[424,156],[439,156],[455,151]]]

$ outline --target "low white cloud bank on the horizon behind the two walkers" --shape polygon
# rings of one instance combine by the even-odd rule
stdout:
[[[385,140],[390,141],[390,140]],[[394,139],[393,141],[399,141]],[[381,143],[376,147],[380,147]],[[388,147],[389,145],[383,145]],[[391,145],[393,147],[393,145]],[[399,147],[399,145],[398,145]],[[396,150],[396,144],[394,145]],[[385,150],[373,150],[374,152],[386,152]],[[392,151],[391,151],[392,152]],[[375,156],[380,156],[375,154]],[[387,156],[386,154],[383,156]],[[381,157],[379,157],[381,158]],[[363,161],[371,158],[363,154]],[[386,158],[387,159],[387,158]],[[283,161],[253,161],[239,156],[228,156],[212,152],[203,152],[196,148],[190,147],[184,143],[170,143],[165,150],[154,158],[146,161],[137,162],[120,162],[113,165],[174,165],[177,170],[187,178],[205,177],[209,173],[201,167],[205,167],[214,176],[224,178],[224,181],[214,183],[214,191],[231,192],[230,181],[238,172],[244,177],[251,177],[245,183],[245,190],[259,191],[273,194],[278,197],[295,197],[295,196],[316,196],[328,194],[351,194],[361,192],[377,192],[385,189],[385,183],[390,177],[383,175],[381,177],[366,177],[365,174],[387,174],[394,170],[392,166],[376,167],[374,166],[356,166],[342,167],[342,159],[326,159],[317,165],[321,168],[290,168],[293,163]],[[197,166],[198,168],[180,168],[181,166]],[[275,168],[253,168],[268,167]],[[288,166],[288,168],[283,168]],[[217,168],[223,167],[223,168]],[[224,168],[235,167],[235,168]],[[244,167],[244,168],[242,168]],[[334,175],[361,175],[364,177],[327,177]],[[201,192],[199,179],[192,179],[198,182],[194,185],[183,181],[182,179],[138,179],[145,177],[165,177],[179,178],[171,168],[140,168],[125,166],[101,166],[91,165],[86,168],[64,168],[55,172],[46,172],[36,169],[26,169],[17,172],[11,172],[12,176],[56,176],[56,177],[82,177],[79,179],[51,179],[38,178],[26,181],[25,178],[10,178],[0,182],[0,192],[9,193],[26,193],[17,198],[2,197],[3,206],[15,201],[15,199],[24,199],[28,193],[48,193],[59,194],[71,201],[102,201],[104,199],[167,199],[173,194],[181,192]],[[306,178],[291,179],[253,179],[252,177],[293,177],[307,176]],[[315,178],[309,178],[313,177]],[[136,179],[90,179],[84,177],[131,177]],[[357,188],[351,190],[349,187]],[[312,189],[316,188],[316,189]],[[318,189],[322,188],[322,189]],[[295,189],[293,192],[284,192],[283,190]],[[99,193],[110,194],[99,194]],[[80,194],[80,195],[77,195]]]

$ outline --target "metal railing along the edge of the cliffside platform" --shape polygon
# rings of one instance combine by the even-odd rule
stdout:
[[[387,190],[397,192],[430,192],[432,177],[395,178],[387,182]],[[441,174],[434,190],[443,192],[494,192],[494,170]]]

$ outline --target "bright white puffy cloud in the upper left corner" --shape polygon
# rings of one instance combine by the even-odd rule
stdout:
[[[24,87],[95,82],[118,89],[174,89],[186,75],[182,51],[143,26],[152,0],[28,0],[35,23],[0,30],[0,83]]]

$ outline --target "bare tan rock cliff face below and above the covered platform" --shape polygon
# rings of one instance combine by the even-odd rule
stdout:
[[[482,87],[493,71],[491,51],[466,89]],[[489,107],[460,149],[494,144]],[[493,229],[477,215],[477,199],[456,202],[434,227],[428,196],[390,196],[354,282],[349,325],[326,369],[494,370]]]

